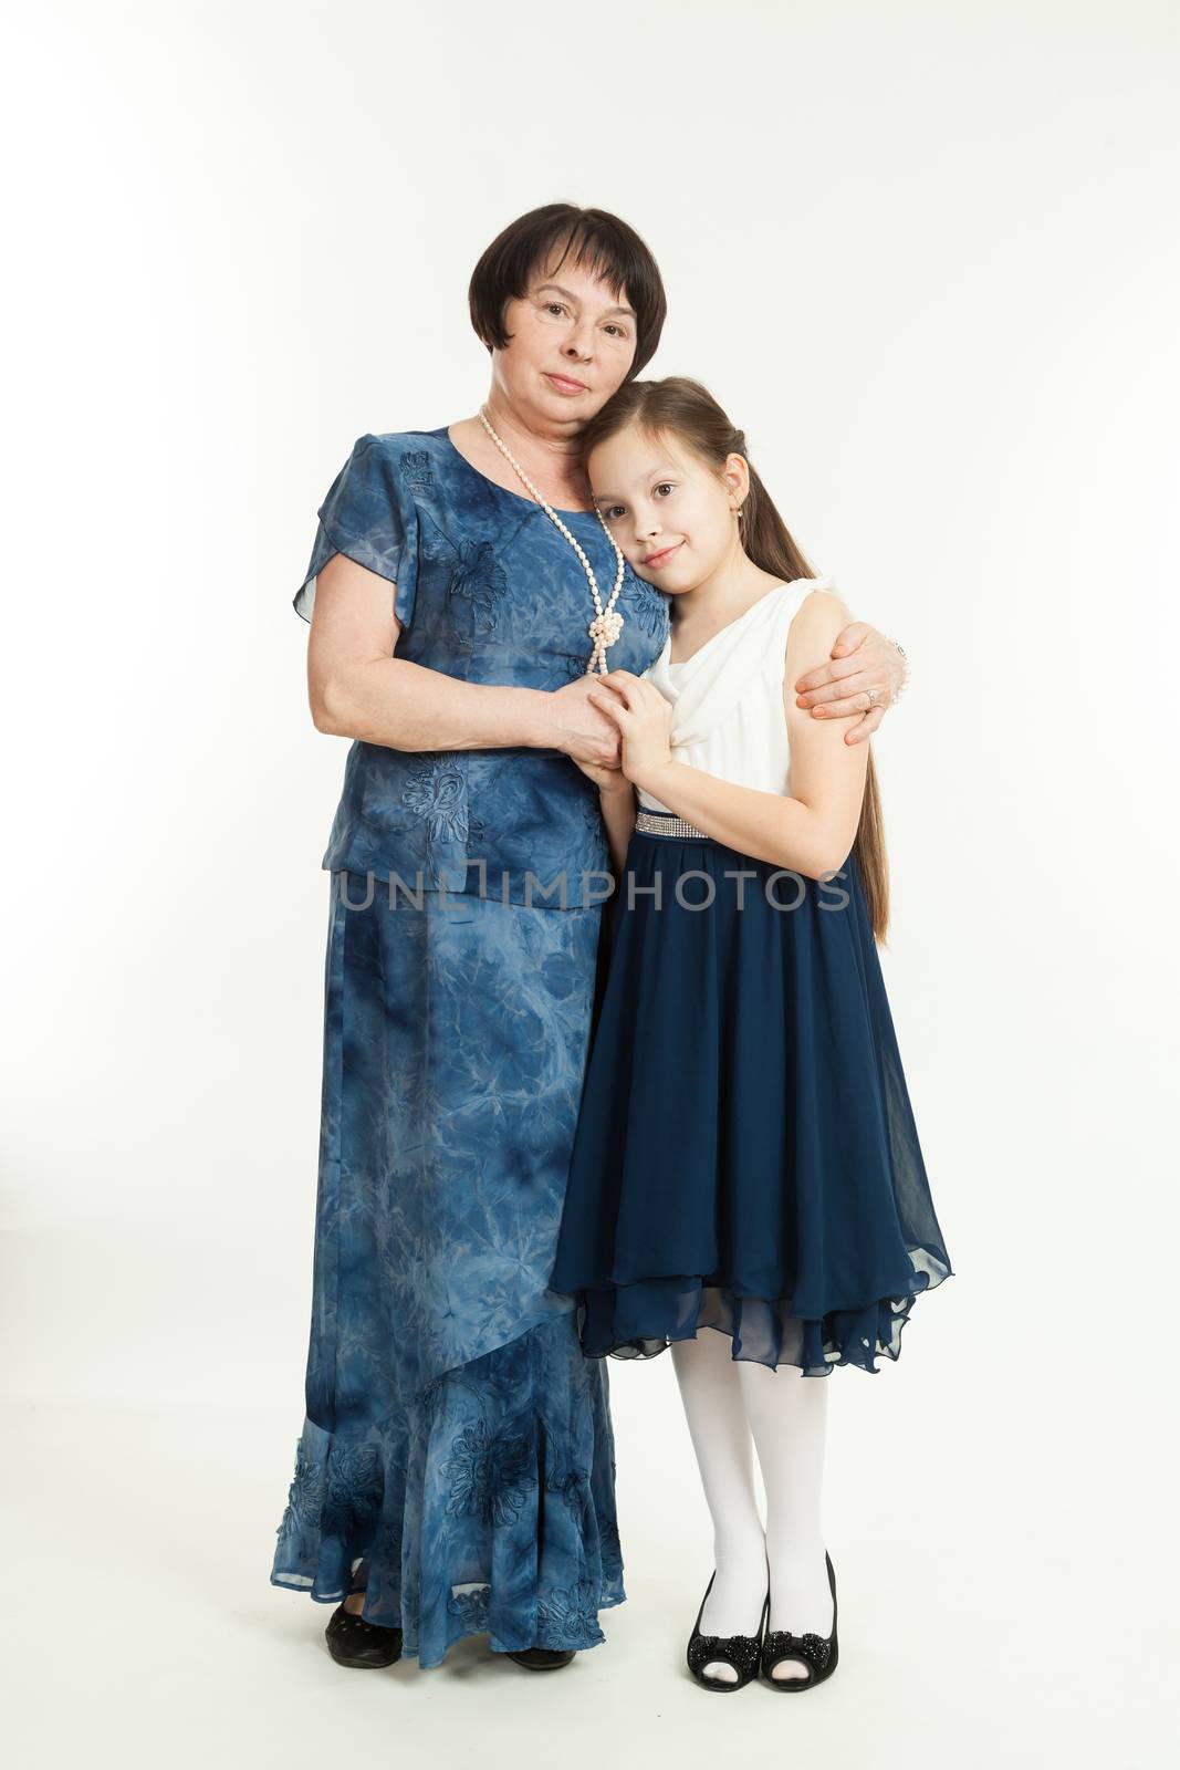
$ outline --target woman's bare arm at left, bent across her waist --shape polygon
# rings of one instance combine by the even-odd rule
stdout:
[[[458,681],[393,655],[393,586],[345,554],[320,570],[308,639],[317,731],[395,750],[556,749],[617,765],[617,727],[589,704],[593,678],[545,689]]]

